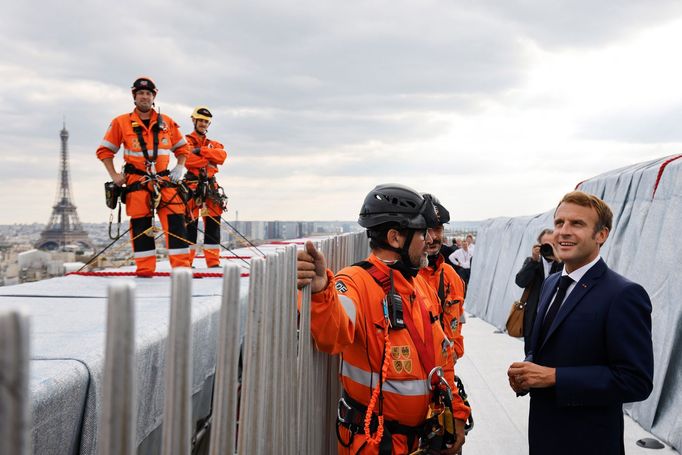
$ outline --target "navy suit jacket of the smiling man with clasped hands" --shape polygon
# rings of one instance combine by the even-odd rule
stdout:
[[[560,273],[545,280],[538,321]],[[556,386],[531,389],[531,455],[624,454],[623,403],[651,393],[651,302],[642,286],[599,260],[566,298],[540,340],[535,324],[527,360],[556,368]]]

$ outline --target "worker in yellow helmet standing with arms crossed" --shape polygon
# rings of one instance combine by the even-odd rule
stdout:
[[[204,220],[204,256],[207,267],[220,267],[220,216],[226,209],[225,193],[215,175],[218,166],[225,162],[227,152],[218,141],[206,137],[213,114],[207,107],[199,106],[192,112],[194,131],[185,136],[191,149],[187,157],[185,184],[192,197],[187,202],[187,239],[190,246],[190,263],[197,250],[199,217]]]

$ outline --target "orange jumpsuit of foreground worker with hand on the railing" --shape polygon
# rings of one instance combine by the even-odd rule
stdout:
[[[389,274],[390,269],[376,256],[370,255],[367,260],[380,272]],[[336,277],[327,270],[327,276],[327,288],[312,296],[311,332],[320,351],[342,354],[343,389],[351,399],[368,406],[384,359],[387,321],[382,301],[385,292],[366,270],[358,266],[346,267]],[[408,281],[394,271],[393,278],[395,291],[403,300],[403,313],[411,315],[420,341],[427,339],[422,309],[430,313],[426,327],[431,330],[433,345],[426,348],[433,349],[435,366],[442,367],[444,377],[454,392],[454,417],[466,420],[470,410],[454,387],[453,349],[437,320],[440,308],[435,293],[420,276]],[[391,350],[386,354],[390,356],[390,366],[382,389],[384,419],[420,427],[426,420],[431,401],[432,392],[428,388],[430,371],[422,366],[416,343],[407,329],[389,328],[388,334]],[[345,426],[339,427],[339,433],[344,442],[352,440],[349,448],[339,442],[339,454],[356,454],[363,446],[362,454],[378,453],[378,446],[368,444],[364,433],[353,436]],[[406,454],[416,449],[417,441],[408,447],[406,435],[393,434],[392,444],[394,454]]]

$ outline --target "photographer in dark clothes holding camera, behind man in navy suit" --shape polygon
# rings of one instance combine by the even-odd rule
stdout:
[[[523,349],[528,355],[530,333],[538,311],[538,300],[542,283],[549,275],[560,271],[563,264],[554,252],[554,231],[543,229],[538,235],[538,243],[533,245],[531,255],[526,258],[521,270],[516,274],[516,285],[528,289],[526,309],[523,312]]]

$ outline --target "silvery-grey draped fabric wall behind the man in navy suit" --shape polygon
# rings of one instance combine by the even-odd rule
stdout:
[[[601,255],[610,268],[640,283],[653,304],[654,390],[643,402],[626,405],[642,427],[682,447],[682,159],[668,158],[611,171],[580,184],[613,210],[614,227]],[[567,188],[566,192],[571,188]],[[558,201],[557,201],[558,202]],[[476,238],[476,254],[466,299],[467,311],[503,328],[522,290],[516,272],[538,233],[552,227],[554,209],[534,217],[486,220]],[[623,336],[627,336],[626,333]],[[520,356],[522,353],[520,353]]]

